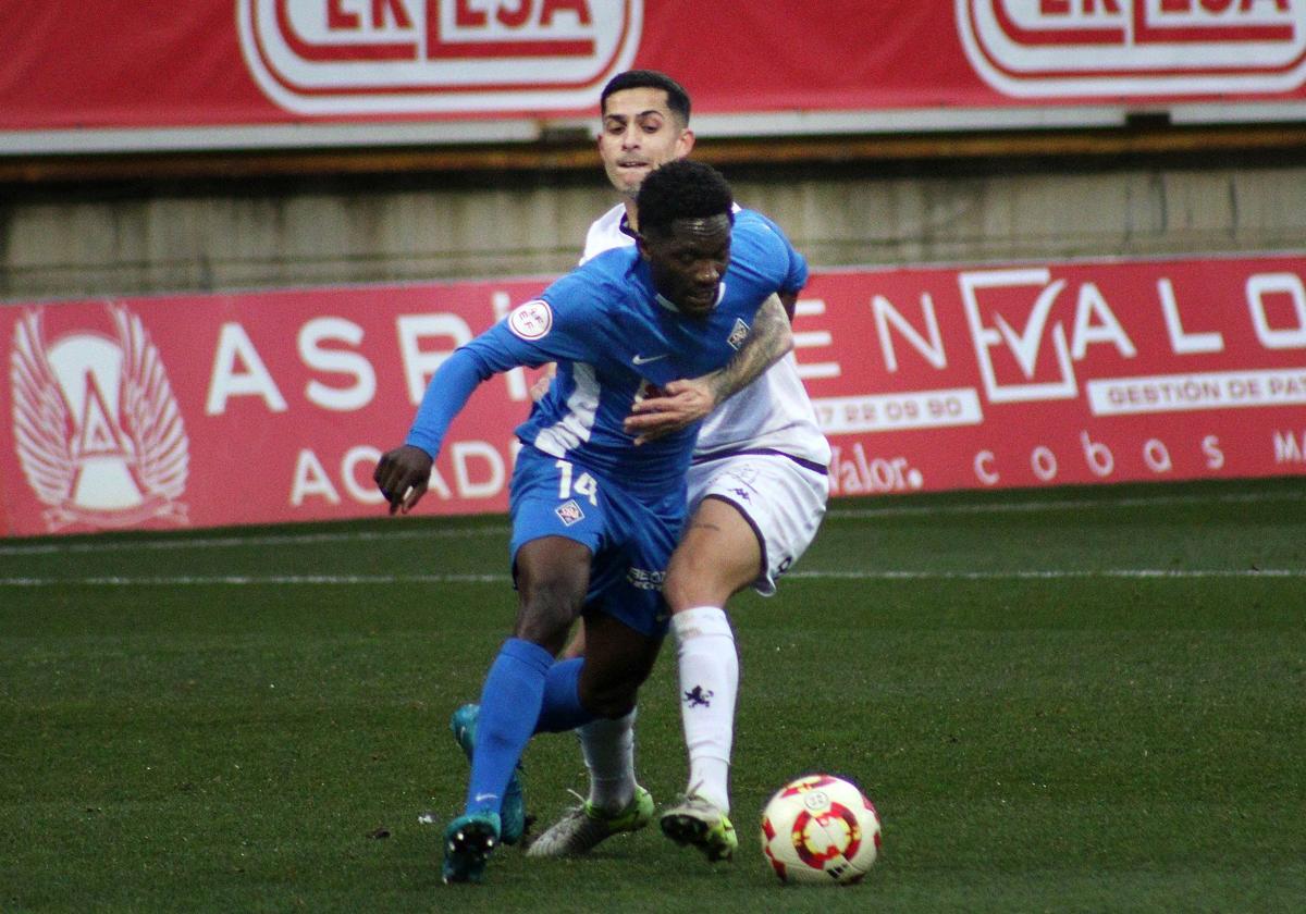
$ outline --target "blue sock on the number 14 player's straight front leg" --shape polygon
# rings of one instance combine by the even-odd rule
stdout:
[[[466,813],[499,812],[508,778],[539,719],[552,662],[552,654],[521,638],[508,638],[499,649],[481,689]]]

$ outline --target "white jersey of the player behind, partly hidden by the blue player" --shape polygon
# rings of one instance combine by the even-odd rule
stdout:
[[[738,209],[738,206],[735,208]],[[626,206],[618,204],[590,225],[585,234],[585,262],[610,248],[632,245],[623,231]],[[829,443],[816,424],[798,362],[790,353],[757,380],[730,397],[699,428],[695,460],[741,450],[773,450],[819,466],[829,465]]]

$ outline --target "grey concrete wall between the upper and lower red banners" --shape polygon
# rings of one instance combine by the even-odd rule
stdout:
[[[1299,157],[1298,157],[1299,158]],[[1303,247],[1306,161],[722,166],[816,268]],[[551,274],[592,172],[137,181],[0,201],[0,299]]]

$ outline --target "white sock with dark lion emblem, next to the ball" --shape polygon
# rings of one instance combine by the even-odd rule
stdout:
[[[690,791],[730,811],[730,747],[739,655],[725,610],[697,606],[671,616],[680,671],[680,719],[690,751]]]

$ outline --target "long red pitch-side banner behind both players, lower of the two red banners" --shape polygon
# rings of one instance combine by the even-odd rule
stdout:
[[[380,514],[456,346],[546,279],[0,307],[0,531]],[[1306,474],[1306,256],[818,272],[797,356],[836,495]],[[419,511],[504,511],[530,377]]]

